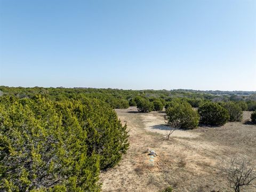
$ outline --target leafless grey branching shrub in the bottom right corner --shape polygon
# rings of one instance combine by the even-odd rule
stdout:
[[[255,187],[256,172],[245,159],[231,158],[229,166],[223,171],[227,174],[229,185],[235,192],[239,192],[245,186]]]

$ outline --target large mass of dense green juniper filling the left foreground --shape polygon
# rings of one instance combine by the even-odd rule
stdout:
[[[105,102],[0,98],[4,191],[99,191],[100,169],[128,147],[126,126]]]

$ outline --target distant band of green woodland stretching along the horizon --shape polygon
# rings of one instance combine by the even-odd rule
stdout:
[[[248,105],[248,110],[254,110],[256,102],[256,92],[254,91],[195,91],[195,90],[119,90],[119,89],[94,89],[94,88],[44,88],[44,87],[7,87],[0,86],[2,95],[14,95],[18,98],[32,98],[35,95],[43,95],[53,101],[65,99],[79,100],[81,97],[96,98],[107,102],[112,108],[127,108],[135,106],[134,99],[138,95],[153,101],[154,98],[162,99],[166,102],[174,98],[186,100],[193,107],[198,107],[204,100],[213,102],[244,102]],[[237,93],[237,94],[234,94]],[[163,103],[164,104],[164,103]],[[247,110],[247,107],[245,107]]]

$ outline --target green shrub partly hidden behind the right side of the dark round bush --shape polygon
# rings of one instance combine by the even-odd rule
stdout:
[[[242,111],[241,107],[238,106],[236,103],[225,102],[225,103],[221,103],[221,106],[223,106],[225,109],[228,110],[230,122],[242,121],[243,111]]]

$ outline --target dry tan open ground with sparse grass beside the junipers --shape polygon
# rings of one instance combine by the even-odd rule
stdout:
[[[135,107],[116,112],[130,129],[130,148],[117,166],[101,172],[102,191],[157,191],[169,185],[182,192],[231,191],[221,167],[236,155],[256,165],[256,126],[245,123],[249,111],[243,122],[174,131],[169,140],[164,113],[141,114]],[[157,153],[154,166],[143,153],[148,148]]]

